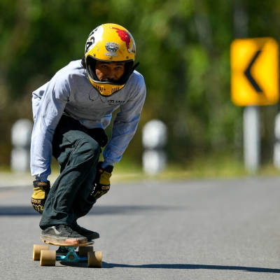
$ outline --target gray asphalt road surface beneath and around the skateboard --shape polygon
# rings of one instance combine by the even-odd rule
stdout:
[[[1,279],[280,279],[280,178],[111,186],[80,219],[101,236],[101,269],[32,260],[31,193],[0,188]]]

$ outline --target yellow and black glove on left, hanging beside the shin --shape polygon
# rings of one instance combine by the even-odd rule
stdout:
[[[40,214],[43,214],[43,206],[45,205],[45,200],[50,193],[50,181],[41,182],[38,180],[33,181],[34,193],[31,196],[31,204],[33,208]]]

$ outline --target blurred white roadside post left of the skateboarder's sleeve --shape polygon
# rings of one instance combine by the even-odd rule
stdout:
[[[10,168],[13,172],[27,172],[30,167],[30,143],[33,123],[31,120],[16,121],[11,130],[13,150],[10,155]]]

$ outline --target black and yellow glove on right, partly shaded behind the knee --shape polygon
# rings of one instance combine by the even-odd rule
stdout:
[[[97,174],[93,182],[94,190],[91,194],[97,200],[102,197],[102,195],[105,195],[109,192],[111,186],[110,178],[113,172],[112,165],[108,165],[107,167],[102,168],[102,163],[103,162],[97,163]]]

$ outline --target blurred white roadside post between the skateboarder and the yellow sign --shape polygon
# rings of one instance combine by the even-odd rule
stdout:
[[[167,126],[161,120],[151,120],[142,130],[143,169],[146,174],[155,175],[162,172],[167,164],[164,151],[167,144]]]

